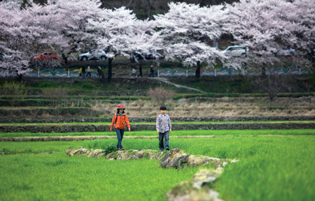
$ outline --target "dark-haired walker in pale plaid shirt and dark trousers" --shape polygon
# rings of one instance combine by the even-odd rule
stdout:
[[[169,133],[172,132],[171,119],[165,114],[166,107],[160,107],[161,114],[156,118],[156,131],[159,133],[159,149],[164,151],[163,138],[165,138],[165,149],[169,150]]]

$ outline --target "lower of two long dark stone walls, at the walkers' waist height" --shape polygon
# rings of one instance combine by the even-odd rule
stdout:
[[[109,132],[111,126],[103,125],[0,125],[0,132],[80,133]],[[234,123],[234,124],[173,124],[173,131],[186,130],[246,130],[246,129],[314,129],[315,122],[286,123]],[[127,129],[127,128],[126,128]],[[155,124],[132,124],[131,131],[155,131]]]

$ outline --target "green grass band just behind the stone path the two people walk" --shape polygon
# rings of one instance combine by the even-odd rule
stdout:
[[[294,144],[300,143],[299,146]],[[69,147],[102,149],[106,144],[117,144],[116,139],[86,140],[70,142],[0,142],[0,151],[8,153],[64,152]],[[179,148],[187,154],[216,158],[247,158],[266,154],[278,154],[287,149],[311,149],[315,137],[214,137],[214,138],[171,138],[170,147]],[[125,149],[158,150],[158,139],[123,139]],[[300,147],[300,148],[299,148]],[[311,150],[314,151],[314,150]]]

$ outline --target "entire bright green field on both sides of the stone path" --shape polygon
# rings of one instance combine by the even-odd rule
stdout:
[[[306,135],[304,131],[309,132],[295,132]],[[223,200],[315,200],[314,136],[239,137],[249,135],[239,132],[245,134],[171,138],[170,146],[187,154],[239,160],[215,184]],[[116,139],[0,142],[0,151],[19,153],[0,156],[0,200],[167,200],[167,191],[200,170],[165,170],[148,159],[109,161],[64,154],[69,147],[102,149],[107,144],[116,144]],[[123,146],[156,150],[158,139],[124,139]],[[59,153],[36,154],[46,151]]]

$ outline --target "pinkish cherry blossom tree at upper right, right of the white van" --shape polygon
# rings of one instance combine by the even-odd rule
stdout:
[[[246,58],[229,58],[225,65],[244,68],[246,66],[242,64],[252,63],[260,66],[262,76],[265,77],[268,66],[286,60],[283,57],[274,57],[281,46],[301,47],[301,34],[297,30],[302,22],[298,22],[297,18],[302,17],[296,15],[299,9],[295,9],[297,7],[291,1],[241,0],[232,5],[226,4],[226,7],[230,10],[228,31],[235,39],[234,43],[248,47],[250,54]]]

